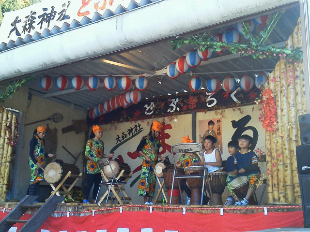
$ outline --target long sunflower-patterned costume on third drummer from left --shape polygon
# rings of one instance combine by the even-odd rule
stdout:
[[[153,138],[150,135],[144,136],[141,140],[143,139],[146,140],[146,144],[143,146],[142,152],[151,159],[151,162],[146,161],[144,157],[139,156],[139,158],[143,161],[138,187],[138,196],[154,197],[156,185],[154,168],[157,163],[157,154],[161,145],[158,139]]]

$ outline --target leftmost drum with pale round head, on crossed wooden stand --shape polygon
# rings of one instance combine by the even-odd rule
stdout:
[[[74,175],[80,174],[78,166],[70,163],[62,163],[62,160],[59,161],[60,162],[49,163],[45,167],[44,179],[47,183],[59,184],[69,171],[71,171]],[[64,184],[71,185],[75,180],[76,178],[69,177],[66,179]]]

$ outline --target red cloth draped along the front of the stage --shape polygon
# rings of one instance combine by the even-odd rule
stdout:
[[[0,213],[0,219],[8,213]],[[28,219],[25,214],[21,219]],[[9,232],[18,232],[16,224]],[[125,211],[94,216],[48,217],[37,232],[241,232],[279,227],[303,227],[302,210],[254,214]]]

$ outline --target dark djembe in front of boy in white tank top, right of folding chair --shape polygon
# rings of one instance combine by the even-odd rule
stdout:
[[[224,192],[226,186],[226,173],[214,172],[208,173],[208,178],[210,180],[212,196],[214,200],[214,204],[222,205],[222,193]],[[206,183],[206,188],[210,194],[209,185]],[[211,204],[211,203],[210,203]]]

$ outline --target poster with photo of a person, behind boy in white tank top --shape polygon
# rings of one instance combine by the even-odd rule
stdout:
[[[202,143],[203,139],[207,135],[212,135],[217,138],[217,144],[215,148],[218,148],[223,154],[223,140],[222,140],[222,118],[212,118],[199,120],[198,123],[199,142]]]

